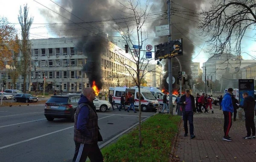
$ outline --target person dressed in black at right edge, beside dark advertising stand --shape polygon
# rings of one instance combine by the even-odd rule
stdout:
[[[255,100],[252,96],[248,95],[247,92],[243,93],[244,104],[239,104],[239,107],[244,109],[245,116],[245,127],[247,130],[247,136],[243,137],[243,139],[255,139],[255,124],[254,124],[254,107]],[[252,130],[252,131],[251,131]],[[252,136],[251,136],[252,133]]]

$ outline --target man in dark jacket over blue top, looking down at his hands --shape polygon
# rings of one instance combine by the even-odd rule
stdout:
[[[189,90],[185,90],[185,95],[180,97],[179,105],[182,107],[183,122],[184,122],[184,137],[188,136],[188,121],[189,121],[189,133],[190,138],[195,138],[193,115],[195,114],[195,98],[190,95]]]

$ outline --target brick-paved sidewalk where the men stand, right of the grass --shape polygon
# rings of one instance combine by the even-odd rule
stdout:
[[[210,111],[195,113],[196,138],[190,139],[190,136],[183,137],[181,121],[170,162],[256,162],[256,139],[242,139],[247,133],[245,122],[241,119],[232,121],[229,136],[233,142],[222,140],[223,124],[224,116],[218,107],[215,107],[214,114]]]

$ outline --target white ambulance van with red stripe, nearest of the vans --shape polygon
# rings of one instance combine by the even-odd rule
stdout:
[[[141,110],[142,111],[156,111],[159,108],[160,104],[154,98],[154,95],[149,90],[145,90],[143,88],[140,89],[140,101],[141,101]],[[127,87],[110,87],[109,95],[113,95],[113,103],[116,106],[120,105],[121,96],[124,94],[125,98],[125,107],[129,107],[130,105],[130,97],[134,95],[134,107],[139,108],[139,89],[138,88],[127,88]]]

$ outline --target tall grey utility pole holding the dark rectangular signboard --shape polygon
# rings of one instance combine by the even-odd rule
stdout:
[[[168,41],[172,41],[172,17],[171,17],[171,1],[167,0],[168,4],[168,24],[169,24],[169,38]],[[168,71],[169,71],[169,113],[173,115],[172,107],[172,58],[168,58]]]

